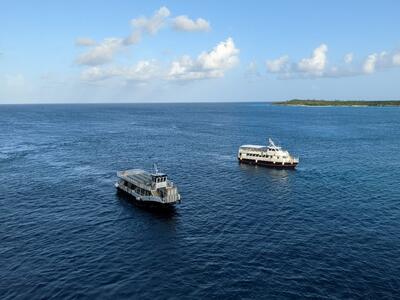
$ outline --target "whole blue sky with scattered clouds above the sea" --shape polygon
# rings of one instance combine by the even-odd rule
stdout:
[[[20,1],[0,104],[400,99],[400,1]]]

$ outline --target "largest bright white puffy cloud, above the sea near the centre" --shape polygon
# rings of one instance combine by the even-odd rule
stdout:
[[[225,71],[239,61],[239,49],[232,38],[220,42],[213,50],[201,53],[196,59],[183,56],[171,63],[167,77],[172,80],[191,80],[223,77]]]

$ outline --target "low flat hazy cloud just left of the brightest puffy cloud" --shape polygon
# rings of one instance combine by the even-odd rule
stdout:
[[[130,67],[90,67],[81,73],[84,81],[100,81],[113,77],[121,77],[130,81],[145,81],[155,78],[158,74],[158,65],[154,60],[142,60]]]

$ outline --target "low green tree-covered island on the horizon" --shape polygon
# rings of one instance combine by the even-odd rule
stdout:
[[[400,106],[400,100],[301,100],[293,99],[288,101],[273,102],[276,105],[287,106]]]

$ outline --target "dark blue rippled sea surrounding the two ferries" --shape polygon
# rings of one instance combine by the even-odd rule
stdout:
[[[296,171],[239,165],[273,137]],[[157,162],[171,213],[118,196]],[[396,298],[400,109],[0,106],[0,297]]]

